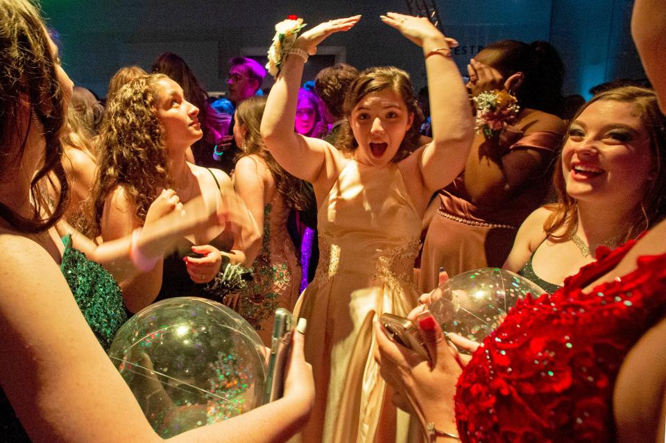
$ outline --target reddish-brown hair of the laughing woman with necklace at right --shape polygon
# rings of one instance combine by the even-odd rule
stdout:
[[[634,112],[649,134],[650,150],[654,156],[656,178],[643,196],[640,203],[641,210],[635,214],[629,230],[621,239],[624,242],[629,238],[635,238],[666,215],[666,200],[664,200],[666,196],[666,117],[659,111],[657,97],[652,89],[626,86],[610,89],[592,97],[588,103],[580,107],[571,121],[576,121],[584,110],[597,101],[619,101],[633,104]],[[566,139],[564,143],[566,143]],[[554,238],[569,238],[578,222],[578,202],[567,194],[561,155],[558,156],[556,162],[553,182],[558,202],[547,205],[547,208],[552,210],[552,214],[546,219],[543,229]],[[563,227],[565,228],[563,234],[555,234]]]

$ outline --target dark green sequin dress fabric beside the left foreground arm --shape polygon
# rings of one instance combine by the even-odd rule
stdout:
[[[102,347],[108,349],[116,331],[127,321],[121,290],[107,270],[71,246],[71,236],[65,236],[62,243],[65,243],[60,265],[62,275],[85,321]]]

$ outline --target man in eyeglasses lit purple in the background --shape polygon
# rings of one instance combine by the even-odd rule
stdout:
[[[231,114],[233,118],[234,109],[241,101],[255,94],[262,94],[260,88],[262,82],[264,82],[264,77],[266,77],[266,69],[257,61],[246,57],[234,57],[229,60],[229,64],[230,68],[227,76],[229,93],[225,98],[220,98],[211,103],[211,106],[217,112]],[[234,123],[232,120],[227,135],[221,137],[213,153],[213,158],[217,162],[213,166],[222,169],[225,173],[230,173],[234,168],[234,157],[236,157],[239,150],[234,142]]]

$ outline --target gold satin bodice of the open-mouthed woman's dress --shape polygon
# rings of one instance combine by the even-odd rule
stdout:
[[[398,166],[350,161],[319,210],[315,279],[363,274],[411,284],[420,226]]]

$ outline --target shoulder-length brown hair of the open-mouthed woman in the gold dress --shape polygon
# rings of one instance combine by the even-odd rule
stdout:
[[[418,148],[418,139],[420,137],[418,130],[423,123],[423,112],[418,105],[418,98],[411,86],[411,80],[409,80],[407,72],[393,66],[373,67],[362,71],[348,90],[344,111],[345,117],[349,119],[354,107],[366,95],[387,88],[393,89],[402,98],[404,105],[407,106],[407,112],[410,112],[414,116],[411,128],[404,134],[404,139],[402,139],[400,148],[398,148],[398,153],[392,159],[393,162],[398,162]],[[339,146],[336,147],[343,153],[351,154],[358,148],[359,144],[354,137],[349,121],[345,121],[341,126],[340,142]]]

